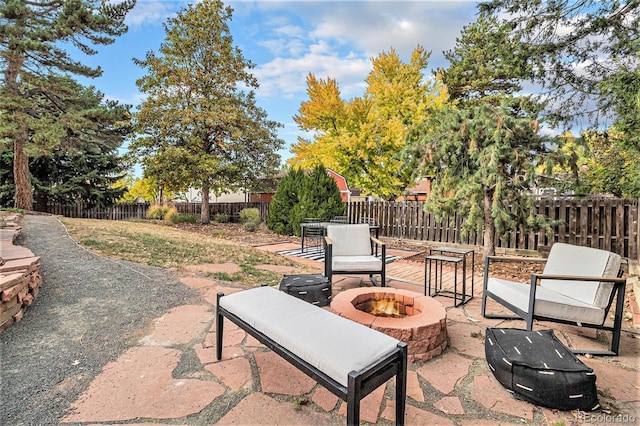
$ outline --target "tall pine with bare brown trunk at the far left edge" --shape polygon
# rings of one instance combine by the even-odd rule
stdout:
[[[83,129],[87,117],[77,108],[75,82],[68,77],[98,77],[64,50],[84,54],[126,32],[124,19],[135,0],[23,1],[0,4],[0,141],[13,143],[15,207],[31,210],[29,158],[51,153],[69,133]]]

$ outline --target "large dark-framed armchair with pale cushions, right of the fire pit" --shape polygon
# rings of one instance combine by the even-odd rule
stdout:
[[[532,274],[530,284],[489,277],[491,262],[523,260],[527,259],[485,258],[482,316],[522,319],[526,321],[527,330],[533,329],[535,319],[610,331],[609,351],[575,349],[573,352],[618,355],[626,284],[621,278],[622,258],[605,250],[555,243],[542,274]],[[487,313],[487,298],[515,315]],[[613,325],[605,325],[614,300]]]

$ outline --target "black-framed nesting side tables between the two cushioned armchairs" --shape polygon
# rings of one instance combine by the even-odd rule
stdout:
[[[438,253],[438,254],[436,254]],[[471,256],[471,265],[467,263],[467,256]],[[453,305],[458,307],[473,299],[475,284],[475,251],[455,247],[435,247],[429,250],[429,255],[424,258],[424,294],[429,296],[445,296],[453,298]],[[442,288],[442,265],[445,262],[453,264],[453,291]],[[458,265],[462,266],[461,292],[458,291]],[[467,293],[467,268],[471,267],[471,292]],[[433,291],[431,290],[431,278],[435,272]],[[439,280],[438,280],[439,276]],[[458,301],[459,299],[459,301]]]

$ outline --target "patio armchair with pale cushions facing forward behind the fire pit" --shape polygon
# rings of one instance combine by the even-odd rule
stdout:
[[[386,285],[387,247],[369,234],[369,225],[329,224],[324,246],[324,275],[329,282],[337,274],[367,274],[374,285],[378,285],[374,275],[380,275],[382,287]]]

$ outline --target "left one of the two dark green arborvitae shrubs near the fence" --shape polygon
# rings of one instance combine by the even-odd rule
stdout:
[[[292,168],[278,183],[278,189],[269,203],[267,226],[273,232],[282,235],[294,235],[296,227],[293,220],[295,207],[300,203],[305,174],[302,170]],[[298,227],[300,221],[298,220]]]

